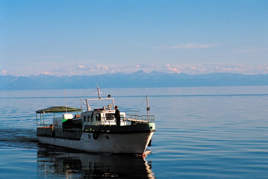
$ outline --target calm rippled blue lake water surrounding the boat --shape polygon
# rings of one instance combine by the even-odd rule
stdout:
[[[64,90],[0,91],[0,178],[268,178],[268,86],[101,92],[114,97],[120,111],[143,114],[149,96],[157,130],[149,155],[92,155],[39,144],[35,111],[65,106]],[[96,97],[95,89],[67,89],[66,95],[67,106],[83,109],[80,99]]]

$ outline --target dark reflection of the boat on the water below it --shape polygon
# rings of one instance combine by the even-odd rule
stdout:
[[[155,178],[151,163],[135,155],[92,155],[42,145],[37,164],[38,177],[46,178]]]

